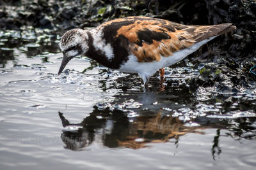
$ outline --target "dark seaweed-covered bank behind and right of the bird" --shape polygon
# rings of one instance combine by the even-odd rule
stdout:
[[[255,1],[1,1],[0,28],[47,29],[47,34],[57,35],[74,27],[95,27],[106,20],[132,15],[189,25],[232,22],[237,27],[235,32],[214,39],[190,56],[192,60],[214,63],[193,78],[191,89],[208,85],[232,92],[255,82],[256,76],[250,72],[256,55]]]

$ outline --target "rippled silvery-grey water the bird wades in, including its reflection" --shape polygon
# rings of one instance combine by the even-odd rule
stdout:
[[[150,92],[86,57],[58,76],[59,39],[0,32],[1,169],[255,169],[255,86],[191,92],[189,59]]]

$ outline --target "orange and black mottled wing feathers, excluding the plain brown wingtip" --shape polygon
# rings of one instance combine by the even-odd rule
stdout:
[[[136,17],[134,24],[120,27],[116,37],[124,35],[129,39],[129,50],[136,55],[139,62],[151,62],[193,45],[195,41],[189,39],[191,36],[186,31],[182,31],[186,28],[188,26],[167,20]]]

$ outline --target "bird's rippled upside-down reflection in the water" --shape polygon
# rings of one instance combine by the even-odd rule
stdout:
[[[61,139],[65,148],[79,150],[95,142],[102,142],[109,148],[126,147],[138,149],[147,143],[162,143],[189,132],[197,132],[202,127],[186,127],[177,117],[162,115],[140,115],[128,118],[120,110],[98,110],[94,108],[90,116],[79,124],[70,122],[59,112],[64,130]]]

